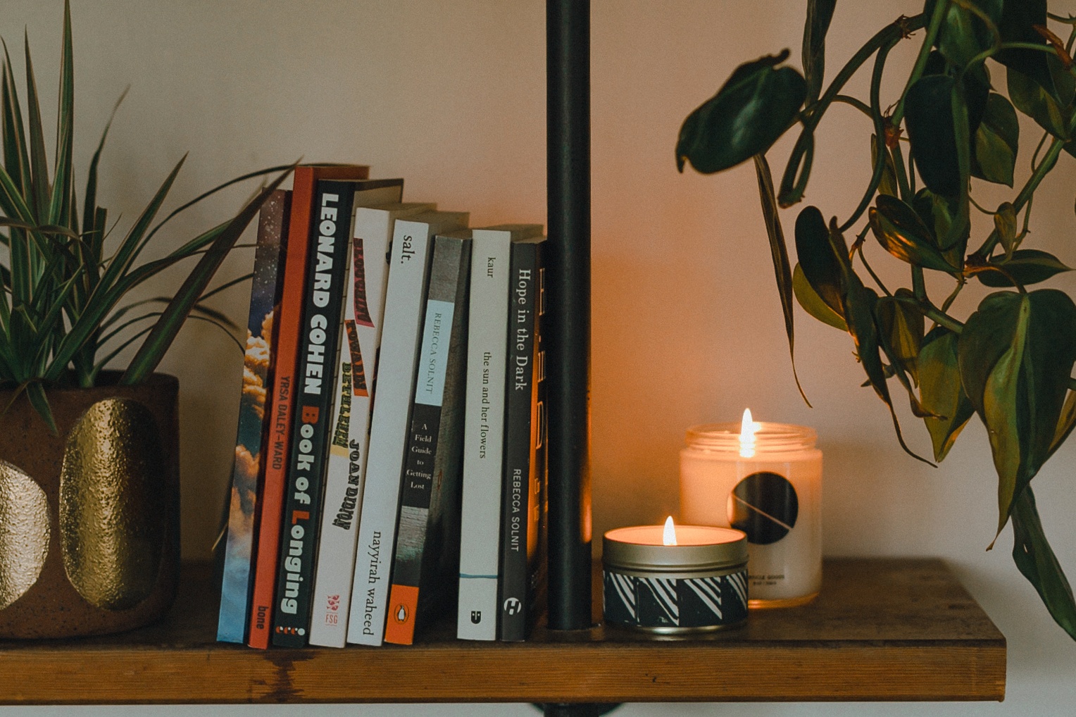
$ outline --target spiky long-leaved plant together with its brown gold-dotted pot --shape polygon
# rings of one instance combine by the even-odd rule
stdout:
[[[214,293],[207,287],[216,269],[291,168],[238,178],[160,220],[181,159],[121,236],[97,197],[108,125],[85,188],[75,189],[68,3],[52,157],[45,151],[29,43],[23,95],[6,52],[5,46],[0,69],[0,242],[5,250],[0,265],[0,637],[113,632],[161,615],[176,584],[178,382],[153,371],[189,315],[226,321],[199,303]],[[183,210],[235,182],[273,171],[281,173],[236,216],[160,258],[141,258]],[[184,259],[194,266],[170,299],[127,298]],[[126,369],[105,370],[139,341]]]

